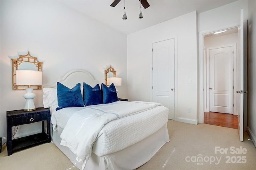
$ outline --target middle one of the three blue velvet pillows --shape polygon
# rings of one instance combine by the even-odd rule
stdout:
[[[96,84],[92,88],[89,84],[84,83],[84,105],[90,106],[94,104],[102,104],[100,85]]]

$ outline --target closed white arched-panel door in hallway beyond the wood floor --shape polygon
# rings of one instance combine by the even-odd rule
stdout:
[[[209,53],[210,104],[212,112],[233,114],[233,46]]]

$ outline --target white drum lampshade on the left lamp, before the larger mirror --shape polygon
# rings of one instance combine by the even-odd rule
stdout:
[[[16,70],[16,85],[38,86],[43,83],[43,72],[35,70]]]

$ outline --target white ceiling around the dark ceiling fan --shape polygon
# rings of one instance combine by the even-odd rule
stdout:
[[[205,12],[236,0],[148,0],[150,7],[141,8],[139,0],[125,0],[127,20],[122,20],[124,0],[111,7],[114,0],[61,0],[58,1],[81,14],[100,21],[124,34],[134,33],[146,27],[188,14]]]

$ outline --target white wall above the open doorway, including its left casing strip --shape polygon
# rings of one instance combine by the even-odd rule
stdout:
[[[247,18],[247,1],[236,1],[213,10],[198,14],[198,54],[199,54],[199,123],[203,123],[204,112],[204,53],[203,34],[236,27],[240,25],[240,10],[244,9],[244,19]],[[244,23],[246,24],[246,23]]]

